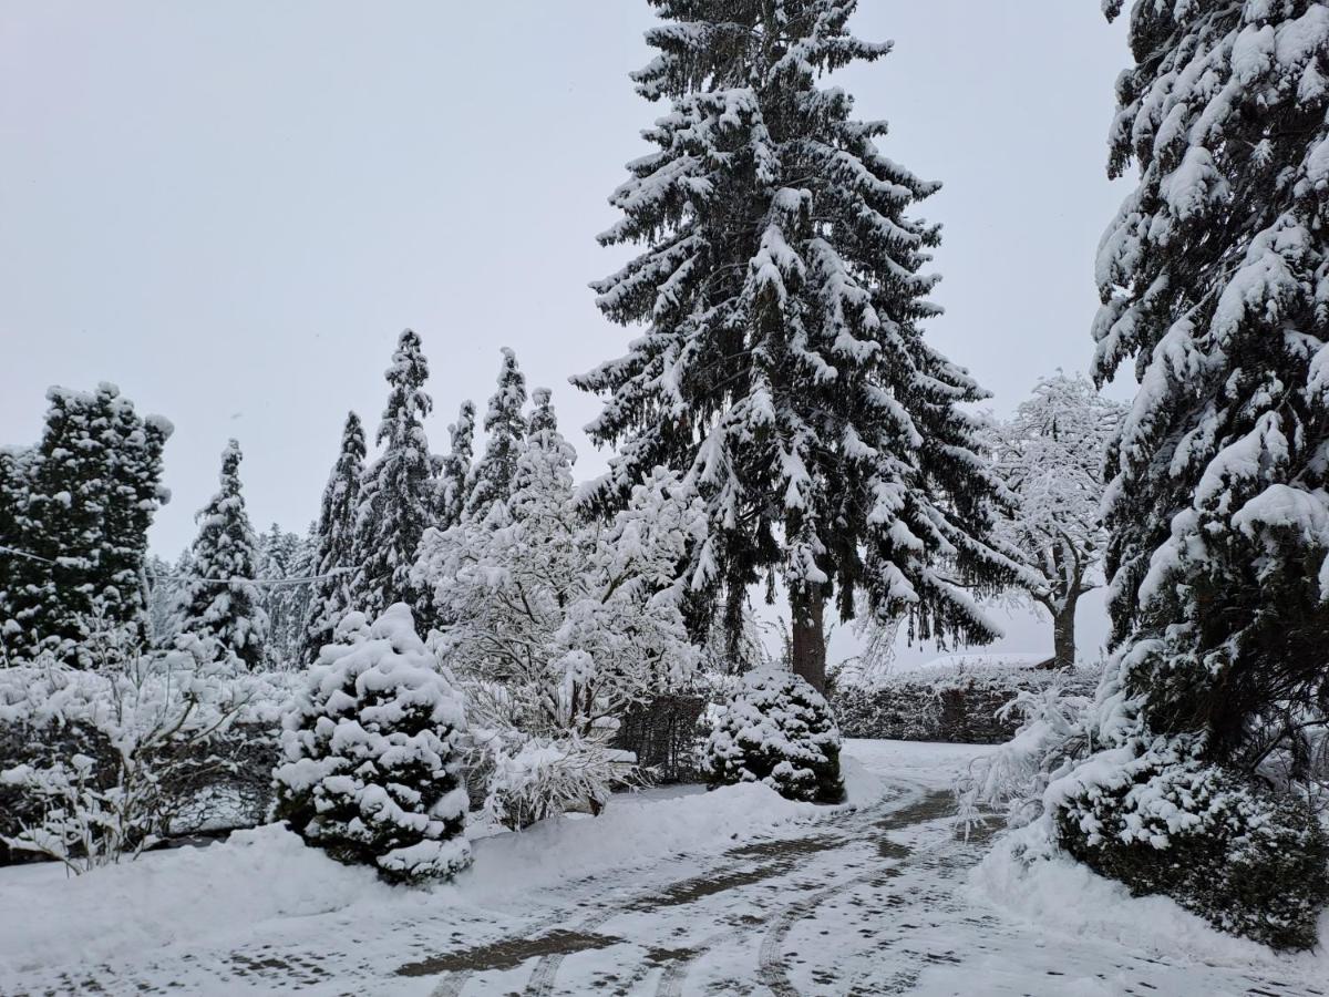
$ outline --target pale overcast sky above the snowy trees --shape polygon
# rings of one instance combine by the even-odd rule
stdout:
[[[376,425],[401,328],[433,376],[436,451],[512,346],[554,388],[581,473],[622,352],[586,288],[594,235],[659,113],[627,73],[645,0],[0,0],[0,441],[49,384],[121,386],[171,419],[154,548],[174,556],[245,449],[255,525],[303,530],[347,408]],[[1083,371],[1127,51],[1092,0],[864,0],[896,51],[839,74],[885,152],[944,182],[933,342],[994,405]]]

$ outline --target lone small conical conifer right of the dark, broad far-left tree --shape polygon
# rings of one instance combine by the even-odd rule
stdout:
[[[222,451],[221,491],[194,520],[198,536],[190,548],[190,576],[181,596],[181,630],[213,638],[249,669],[263,665],[268,621],[259,577],[262,552],[241,493],[241,445]]]

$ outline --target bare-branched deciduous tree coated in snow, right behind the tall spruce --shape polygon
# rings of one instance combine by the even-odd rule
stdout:
[[[1053,618],[1050,667],[1075,665],[1079,598],[1104,582],[1103,461],[1123,415],[1086,378],[1058,374],[995,428],[994,463],[1017,498],[998,536],[1038,578],[1023,592]]]

